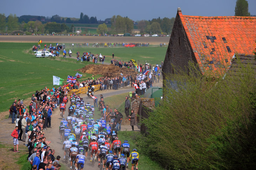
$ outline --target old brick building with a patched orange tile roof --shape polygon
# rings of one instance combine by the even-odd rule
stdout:
[[[163,79],[175,68],[189,74],[189,61],[198,64],[202,74],[220,77],[229,69],[235,53],[252,54],[256,47],[256,17],[189,16],[178,8],[163,64]],[[170,82],[176,87],[177,82]]]

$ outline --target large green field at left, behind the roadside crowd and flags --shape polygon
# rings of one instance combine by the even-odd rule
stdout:
[[[45,86],[52,88],[53,75],[65,83],[68,75],[76,74],[76,69],[92,64],[61,57],[36,58],[31,52],[34,44],[0,43],[0,112],[8,110],[14,99],[31,97]],[[83,79],[90,76],[83,73]]]

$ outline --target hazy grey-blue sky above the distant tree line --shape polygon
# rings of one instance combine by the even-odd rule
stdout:
[[[256,0],[248,0],[249,12],[256,15]],[[183,15],[234,16],[236,0],[1,0],[0,13],[62,17],[80,17],[80,13],[105,20],[113,15],[130,19],[151,20],[175,17],[177,7]]]

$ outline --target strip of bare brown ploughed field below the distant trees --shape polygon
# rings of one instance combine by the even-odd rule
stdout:
[[[0,42],[16,42],[16,43],[37,43],[42,42],[56,43],[149,43],[159,45],[160,43],[169,43],[170,37],[103,37],[103,36],[40,36],[40,35],[16,35],[16,36],[0,36]]]

